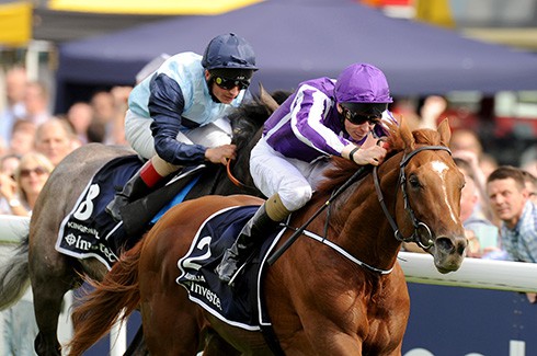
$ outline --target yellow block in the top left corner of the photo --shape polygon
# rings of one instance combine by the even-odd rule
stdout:
[[[32,38],[32,3],[0,4],[0,45],[24,46]]]

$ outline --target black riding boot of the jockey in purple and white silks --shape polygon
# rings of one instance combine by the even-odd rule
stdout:
[[[272,220],[266,214],[265,204],[263,204],[253,217],[242,228],[233,245],[226,250],[220,264],[216,267],[218,278],[221,282],[229,283],[239,266],[258,246],[263,237],[272,232],[278,222]]]

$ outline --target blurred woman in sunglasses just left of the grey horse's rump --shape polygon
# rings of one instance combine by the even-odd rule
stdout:
[[[1,182],[0,195],[9,202],[11,214],[16,216],[30,216],[35,202],[43,190],[50,172],[53,163],[37,152],[24,154],[14,171],[14,185],[4,186]]]

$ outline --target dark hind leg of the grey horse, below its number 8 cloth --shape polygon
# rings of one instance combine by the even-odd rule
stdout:
[[[43,251],[49,250],[44,246],[39,249],[39,253],[30,254],[34,312],[39,329],[34,347],[37,355],[60,355],[58,318],[64,295],[71,289],[77,277],[68,272],[66,256],[56,251]]]

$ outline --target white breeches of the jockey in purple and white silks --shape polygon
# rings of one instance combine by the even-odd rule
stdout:
[[[294,211],[311,199],[315,187],[324,179],[328,158],[313,163],[287,158],[270,147],[264,138],[252,149],[250,173],[255,186],[265,196],[279,194],[282,203]]]

